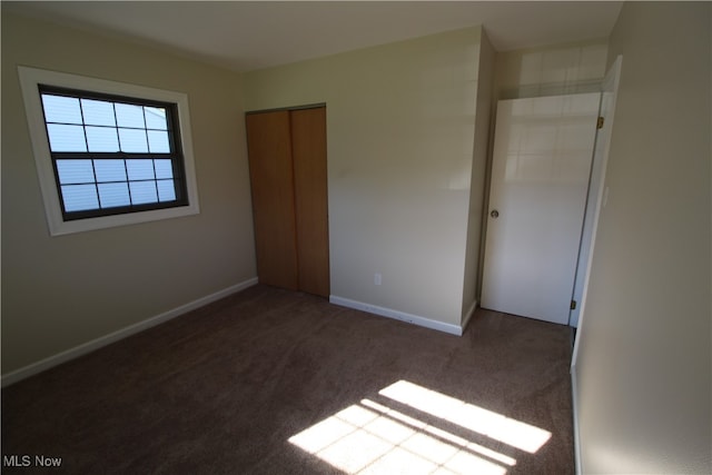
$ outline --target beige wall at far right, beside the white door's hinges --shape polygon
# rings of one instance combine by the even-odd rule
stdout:
[[[577,386],[586,474],[711,473],[711,4],[626,2]]]

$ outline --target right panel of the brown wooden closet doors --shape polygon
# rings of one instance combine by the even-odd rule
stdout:
[[[290,113],[299,289],[328,297],[326,108]]]

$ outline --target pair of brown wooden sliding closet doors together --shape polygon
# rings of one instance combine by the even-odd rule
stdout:
[[[245,121],[259,281],[328,297],[326,107]]]

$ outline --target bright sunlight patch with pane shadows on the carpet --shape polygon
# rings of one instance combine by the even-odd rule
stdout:
[[[551,437],[538,427],[405,380],[379,396],[379,402],[362,399],[289,442],[348,474],[505,475],[516,459],[473,442],[477,434],[507,444],[508,452],[528,453]]]

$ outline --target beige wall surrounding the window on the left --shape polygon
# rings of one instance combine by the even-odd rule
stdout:
[[[188,93],[200,214],[50,237],[17,66]],[[256,275],[239,77],[2,12],[3,375]]]

